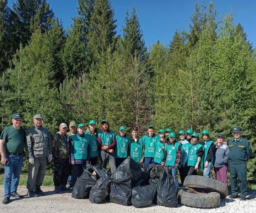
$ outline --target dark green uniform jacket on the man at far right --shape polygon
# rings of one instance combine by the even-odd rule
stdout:
[[[239,138],[238,142],[236,142],[235,138],[229,140],[228,146],[230,151],[228,159],[230,163],[245,163],[252,155],[250,142],[243,137]]]

